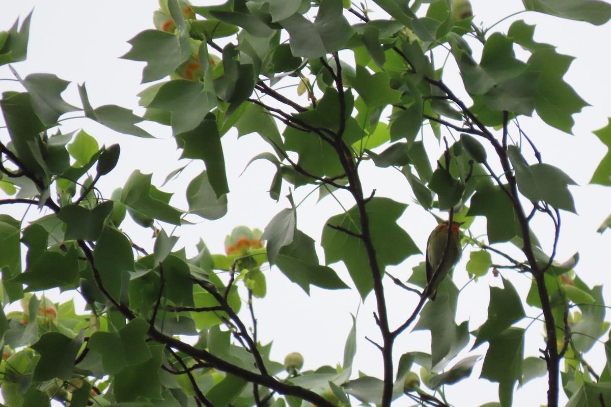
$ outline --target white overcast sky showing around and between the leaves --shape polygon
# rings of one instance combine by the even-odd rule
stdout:
[[[193,1],[196,5],[209,5],[218,1]],[[500,20],[522,8],[521,1],[489,1],[472,0],[476,24],[485,21],[485,26]],[[34,8],[32,18],[28,57],[26,62],[13,64],[21,74],[45,72],[57,74],[62,79],[73,81],[65,98],[75,106],[79,106],[76,93],[76,83],[86,82],[90,102],[93,107],[103,104],[119,104],[136,109],[136,94],[146,87],[139,85],[144,63],[118,59],[130,49],[127,40],[144,29],[153,28],[152,13],[158,8],[155,0],[106,0],[93,2],[86,0],[0,0],[0,30],[7,30],[19,16],[24,18]],[[385,18],[382,13],[375,13],[371,18]],[[606,154],[606,148],[598,141],[591,131],[607,124],[611,116],[609,96],[611,81],[609,81],[608,41],[611,38],[611,24],[603,27],[591,26],[587,23],[573,22],[545,16],[538,13],[522,13],[496,27],[497,31],[506,32],[511,22],[523,19],[529,24],[537,24],[535,40],[557,45],[557,51],[577,57],[569,68],[565,81],[572,85],[582,98],[591,104],[582,113],[574,116],[574,136],[557,131],[537,120],[521,119],[522,127],[535,140],[543,154],[544,162],[563,168],[580,187],[572,187],[579,217],[563,212],[562,234],[558,245],[557,259],[564,261],[576,251],[580,251],[580,263],[576,272],[590,286],[609,283],[610,266],[608,251],[611,248],[611,232],[602,236],[596,233],[596,228],[602,220],[611,213],[611,189],[587,185],[593,171]],[[346,58],[347,59],[347,58]],[[437,59],[439,61],[439,59]],[[12,74],[6,66],[0,67],[0,79],[11,78]],[[446,78],[446,81],[448,79]],[[456,82],[455,82],[456,83]],[[452,82],[449,82],[452,88]],[[16,82],[0,82],[0,91],[20,90]],[[287,94],[295,92],[287,90]],[[293,93],[293,98],[296,93]],[[305,104],[305,103],[304,103]],[[141,112],[141,110],[137,110]],[[70,114],[69,114],[70,115]],[[122,134],[116,134],[89,120],[68,120],[64,122],[63,132],[83,127],[93,135],[100,144],[119,142],[121,156],[119,165],[108,176],[98,182],[104,196],[110,196],[115,187],[122,186],[134,169],[142,173],[153,173],[153,184],[160,185],[166,175],[184,164],[177,162],[180,151],[176,151],[175,142],[170,138],[169,129],[160,126],[147,125],[147,130],[161,140],[137,139]],[[0,137],[5,140],[5,133]],[[269,219],[284,207],[287,200],[281,198],[279,203],[269,199],[266,190],[273,176],[273,165],[258,161],[238,177],[248,160],[254,156],[255,149],[265,148],[265,143],[259,142],[256,135],[249,135],[236,141],[236,133],[229,132],[223,137],[227,175],[229,178],[229,213],[214,222],[203,221],[194,226],[182,227],[177,231],[181,236],[178,247],[185,246],[193,255],[194,243],[202,238],[213,253],[224,251],[223,241],[226,234],[238,225],[251,228],[265,228]],[[436,144],[427,144],[428,151],[434,151]],[[431,154],[436,157],[436,154]],[[527,156],[527,159],[532,156]],[[162,188],[167,192],[176,192],[175,206],[186,209],[184,190],[192,176],[203,168],[199,164],[191,165],[188,173]],[[395,171],[397,172],[397,171]],[[380,174],[380,176],[376,176]],[[408,184],[400,173],[393,171],[374,173],[365,179],[365,190],[376,188],[377,196],[390,196],[404,203],[411,203],[412,197]],[[304,189],[296,193],[299,202],[307,193]],[[283,189],[283,195],[288,190]],[[298,212],[298,228],[313,239],[320,242],[320,234],[324,222],[330,215],[341,211],[332,198],[326,198],[316,204],[317,193],[305,201],[301,212]],[[344,197],[345,198],[345,197]],[[349,202],[344,200],[344,202]],[[348,203],[348,207],[352,206]],[[2,213],[10,213],[19,217],[24,207],[0,208]],[[32,211],[32,209],[31,209]],[[426,237],[433,229],[433,217],[426,214],[417,205],[411,205],[400,218],[403,226],[412,239],[425,250]],[[485,223],[478,223],[476,230],[483,232]],[[551,229],[546,221],[541,225],[538,237],[549,243]],[[167,226],[167,225],[166,225]],[[165,227],[169,233],[171,227]],[[477,229],[479,228],[479,229]],[[131,229],[131,230],[130,230]],[[137,229],[125,226],[134,241],[143,247],[152,247],[153,239],[150,229]],[[548,234],[546,236],[546,233]],[[463,261],[456,267],[455,276],[458,286],[466,283],[467,274],[464,265],[468,260],[467,253]],[[323,260],[321,253],[321,261]],[[413,256],[401,267],[393,267],[393,275],[406,279],[411,275],[411,267],[423,261],[423,256]],[[343,267],[334,268],[340,276],[351,283]],[[505,273],[519,290],[527,290],[529,280],[525,276]],[[311,297],[296,284],[292,284],[279,270],[273,268],[266,272],[268,295],[264,300],[255,302],[255,312],[258,316],[258,331],[262,342],[274,340],[273,356],[282,361],[290,351],[299,351],[305,357],[304,369],[316,369],[323,364],[334,366],[342,361],[345,337],[351,326],[350,313],[358,311],[357,336],[358,353],[354,372],[361,370],[370,375],[381,376],[381,358],[379,352],[369,344],[364,337],[373,340],[379,337],[379,331],[373,322],[371,312],[375,310],[375,300],[370,295],[365,304],[360,305],[356,290],[326,292],[312,287]],[[459,297],[459,315],[457,321],[470,319],[469,327],[474,330],[486,319],[488,306],[488,285],[499,285],[500,279],[491,275],[481,278],[477,284],[469,284]],[[410,314],[417,303],[415,295],[406,294],[395,289],[392,283],[387,284],[388,304],[391,326],[400,325]],[[523,292],[523,291],[521,291]],[[606,302],[611,302],[609,289],[604,290]],[[478,299],[481,298],[481,299]],[[474,300],[475,299],[475,300]],[[62,301],[67,300],[62,296]],[[536,316],[535,309],[527,309],[527,314]],[[526,321],[528,323],[528,321]],[[524,326],[526,325],[524,324]],[[540,323],[535,323],[527,331],[526,356],[536,356],[539,347],[544,347],[543,329]],[[396,342],[395,356],[404,351],[429,351],[430,336],[425,333],[404,333]],[[477,349],[480,355],[485,355],[487,345]],[[456,361],[458,361],[456,359]],[[588,361],[599,371],[604,365],[604,352],[601,345],[596,345],[595,353]],[[479,375],[481,363],[474,369],[474,377]],[[532,381],[514,397],[514,405],[541,405],[546,402],[546,378]],[[478,406],[485,402],[497,400],[497,384],[481,380],[463,381],[455,386],[447,387],[448,401],[457,406]],[[563,393],[561,392],[563,396]],[[401,399],[397,405],[410,405],[407,398]]]

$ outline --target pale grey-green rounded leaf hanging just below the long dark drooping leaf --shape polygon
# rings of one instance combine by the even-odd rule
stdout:
[[[196,214],[208,220],[220,219],[227,214],[227,195],[216,197],[208,180],[207,171],[202,171],[189,182],[186,195],[190,214]]]

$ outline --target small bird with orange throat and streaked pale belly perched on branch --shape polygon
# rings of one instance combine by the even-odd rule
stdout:
[[[435,300],[439,283],[460,260],[463,248],[460,244],[458,229],[462,224],[452,222],[452,228],[450,228],[450,222],[445,220],[433,229],[433,232],[431,232],[426,241],[426,281],[428,283],[426,287],[428,287],[428,298],[431,301]],[[448,240],[448,232],[450,232],[450,245],[447,253],[444,253]],[[439,268],[438,271],[437,268]],[[434,274],[436,276],[433,281]]]

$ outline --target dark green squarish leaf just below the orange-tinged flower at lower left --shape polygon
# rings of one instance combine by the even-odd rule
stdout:
[[[34,369],[34,381],[45,381],[54,378],[70,380],[75,369],[76,355],[83,342],[84,331],[70,339],[59,332],[42,334],[31,346],[38,352],[40,360]]]

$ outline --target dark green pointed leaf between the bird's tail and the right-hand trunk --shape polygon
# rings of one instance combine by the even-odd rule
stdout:
[[[483,342],[491,342],[526,315],[520,295],[504,277],[503,286],[504,288],[490,287],[488,319],[477,332],[474,348]]]

